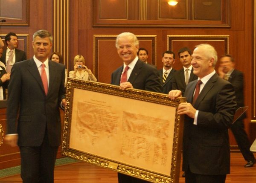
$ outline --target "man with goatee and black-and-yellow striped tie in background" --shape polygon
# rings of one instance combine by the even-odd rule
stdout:
[[[172,64],[175,63],[175,53],[172,51],[165,51],[162,54],[163,69],[158,70],[160,76],[162,76],[162,92],[168,94],[172,90],[173,75],[176,72],[172,68]]]

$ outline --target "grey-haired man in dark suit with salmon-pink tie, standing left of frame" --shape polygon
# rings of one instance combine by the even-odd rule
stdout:
[[[32,46],[34,57],[12,67],[5,140],[20,147],[23,183],[53,183],[61,143],[59,106],[66,105],[65,66],[48,60],[52,48],[48,31],[35,32]]]

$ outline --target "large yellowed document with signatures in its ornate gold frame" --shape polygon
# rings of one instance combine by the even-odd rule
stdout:
[[[61,154],[154,183],[178,183],[185,98],[68,78]]]

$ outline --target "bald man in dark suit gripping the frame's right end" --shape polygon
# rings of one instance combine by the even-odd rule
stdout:
[[[225,183],[230,173],[228,128],[236,110],[232,84],[214,70],[217,52],[209,44],[196,46],[192,66],[198,80],[185,90],[186,101],[177,108],[185,114],[183,131],[183,171],[186,183]],[[195,93],[195,94],[194,94]],[[194,95],[194,96],[193,96]],[[181,96],[172,90],[169,97]]]

